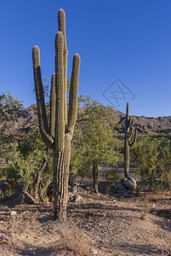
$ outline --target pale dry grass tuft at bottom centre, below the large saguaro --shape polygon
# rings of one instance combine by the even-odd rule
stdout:
[[[54,255],[80,255],[92,256],[94,255],[90,241],[82,231],[77,228],[69,228],[66,224],[59,224],[60,241],[53,243]]]

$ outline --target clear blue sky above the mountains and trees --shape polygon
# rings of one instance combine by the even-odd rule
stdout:
[[[135,115],[171,115],[170,0],[1,1],[0,92],[10,91],[25,107],[36,102],[31,49],[39,46],[42,74],[50,78],[60,8],[66,11],[68,76],[72,56],[81,55],[80,94],[119,103],[121,111],[128,101]]]

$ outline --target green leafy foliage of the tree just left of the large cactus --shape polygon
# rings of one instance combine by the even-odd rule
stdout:
[[[6,168],[7,177],[15,181],[20,179],[21,183],[24,184],[24,189],[34,197],[35,179],[37,174],[41,172],[44,162],[52,154],[51,150],[45,147],[38,131],[28,133],[24,141],[19,141],[12,146],[13,154]],[[52,174],[52,162],[48,160],[43,173],[41,173],[41,180],[43,176],[50,174]],[[47,181],[48,179],[43,181],[43,184]],[[42,188],[39,186],[39,189]]]

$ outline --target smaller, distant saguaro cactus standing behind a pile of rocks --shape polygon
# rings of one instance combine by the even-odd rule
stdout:
[[[125,141],[124,141],[124,174],[125,177],[128,177],[129,172],[129,147],[133,146],[136,142],[137,131],[134,130],[134,119],[132,116],[129,116],[129,108],[127,103],[127,113],[126,113],[126,120],[125,120]]]

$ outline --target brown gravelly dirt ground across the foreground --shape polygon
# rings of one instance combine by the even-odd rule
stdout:
[[[171,196],[117,199],[81,189],[67,220],[52,203],[0,204],[0,255],[171,255]]]

